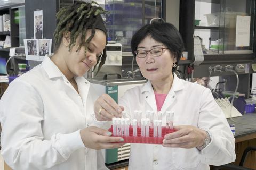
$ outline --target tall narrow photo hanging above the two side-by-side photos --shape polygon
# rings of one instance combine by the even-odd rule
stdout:
[[[43,10],[34,11],[34,38],[43,39]]]

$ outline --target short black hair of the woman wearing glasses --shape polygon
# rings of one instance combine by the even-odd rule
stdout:
[[[152,24],[147,24],[140,28],[132,37],[131,49],[132,54],[136,57],[135,50],[137,50],[138,45],[141,43],[146,36],[151,36],[154,40],[163,43],[173,54],[177,53],[177,62],[181,58],[183,50],[185,50],[182,37],[171,23],[158,23],[153,22]],[[174,72],[177,67],[172,67],[172,72]]]

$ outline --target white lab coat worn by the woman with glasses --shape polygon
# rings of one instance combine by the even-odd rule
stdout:
[[[126,117],[133,119],[135,109],[155,111],[157,106],[151,82],[127,90],[118,103],[124,106]],[[211,143],[201,151],[196,148],[167,148],[162,145],[131,143],[129,169],[210,169],[209,165],[234,162],[235,138],[228,122],[215,103],[210,89],[181,80],[174,74],[172,88],[161,109],[162,126],[165,126],[166,111],[174,111],[174,126],[193,125],[209,131]]]

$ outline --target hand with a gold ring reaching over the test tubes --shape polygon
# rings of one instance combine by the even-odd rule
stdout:
[[[94,103],[94,113],[98,121],[111,121],[113,117],[122,117],[123,106],[108,94],[101,95]]]

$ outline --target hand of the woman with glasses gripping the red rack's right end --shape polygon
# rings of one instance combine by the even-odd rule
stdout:
[[[166,134],[163,147],[190,149],[202,146],[207,133],[196,126],[173,126],[174,132]]]

